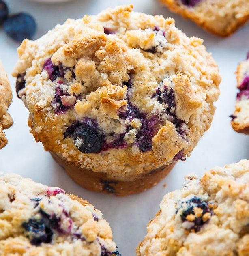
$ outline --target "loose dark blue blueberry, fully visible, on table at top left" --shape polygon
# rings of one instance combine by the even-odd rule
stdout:
[[[36,32],[36,22],[27,13],[17,13],[11,15],[4,22],[4,31],[15,41],[31,39]]]

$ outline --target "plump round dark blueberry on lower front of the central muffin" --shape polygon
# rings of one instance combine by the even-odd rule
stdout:
[[[88,127],[79,127],[74,133],[74,144],[82,153],[98,153],[103,144],[103,136]]]

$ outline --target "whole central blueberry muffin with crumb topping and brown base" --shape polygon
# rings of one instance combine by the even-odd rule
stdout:
[[[173,19],[107,9],[25,40],[18,53],[13,75],[31,133],[87,189],[152,187],[213,119],[217,65]]]

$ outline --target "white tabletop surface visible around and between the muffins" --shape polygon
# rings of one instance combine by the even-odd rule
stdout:
[[[226,39],[215,37],[204,32],[193,22],[170,13],[156,0],[77,0],[58,4],[39,4],[25,0],[7,0],[7,2],[12,13],[26,11],[34,15],[38,24],[36,38],[45,34],[56,24],[63,23],[68,17],[80,18],[84,14],[95,14],[107,7],[133,4],[135,11],[174,17],[176,26],[188,36],[204,39],[207,50],[213,53],[213,57],[218,62],[222,82],[221,95],[216,103],[217,111],[211,128],[204,134],[191,157],[185,162],[177,163],[170,174],[149,191],[117,198],[113,195],[86,191],[79,187],[53,161],[50,154],[43,150],[42,144],[35,142],[27,125],[28,110],[25,109],[21,100],[17,99],[14,92],[15,80],[11,77],[19,44],[6,37],[0,28],[0,59],[13,88],[10,113],[14,120],[13,127],[6,131],[9,144],[0,151],[0,171],[15,172],[45,185],[62,187],[68,193],[76,194],[94,204],[110,223],[114,241],[123,256],[135,255],[135,247],[146,234],[146,225],[157,213],[163,195],[180,188],[185,174],[196,172],[201,176],[205,170],[214,166],[249,159],[249,136],[235,133],[228,117],[234,110],[236,98],[234,72],[238,62],[245,59],[249,50],[249,26],[245,26]],[[167,186],[163,187],[164,184]]]

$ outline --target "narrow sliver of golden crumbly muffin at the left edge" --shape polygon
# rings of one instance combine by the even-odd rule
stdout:
[[[3,130],[8,129],[13,125],[13,120],[7,113],[11,100],[12,93],[9,79],[0,61],[0,149],[8,142]]]

